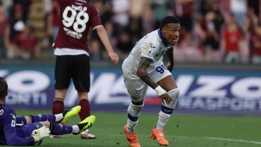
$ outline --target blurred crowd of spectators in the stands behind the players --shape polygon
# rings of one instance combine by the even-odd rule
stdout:
[[[175,62],[261,64],[261,0],[87,1],[99,10],[121,61],[172,15],[181,25]],[[54,60],[59,15],[56,0],[0,0],[0,58]],[[92,61],[110,60],[91,28],[88,45]]]

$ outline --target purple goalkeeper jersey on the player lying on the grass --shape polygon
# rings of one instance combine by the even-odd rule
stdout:
[[[0,145],[27,146],[32,144],[24,127],[16,126],[16,113],[13,109],[0,104]]]

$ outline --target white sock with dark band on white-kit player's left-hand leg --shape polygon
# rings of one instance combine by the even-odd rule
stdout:
[[[144,104],[141,106],[136,106],[133,105],[132,103],[130,104],[128,108],[128,128],[127,128],[128,133],[135,133],[135,126],[138,123],[138,117],[143,106]]]

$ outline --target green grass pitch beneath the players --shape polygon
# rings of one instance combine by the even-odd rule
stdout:
[[[28,115],[51,113],[51,111],[16,110],[16,113]],[[90,128],[90,132],[96,135],[96,139],[81,139],[80,135],[68,134],[63,135],[61,139],[47,137],[40,146],[129,147],[123,132],[123,126],[127,123],[127,112],[92,112],[91,114],[96,116],[96,121]],[[157,113],[141,113],[136,127],[141,147],[159,147],[157,141],[149,137],[157,120]],[[78,122],[80,118],[75,116],[67,124],[74,125]],[[167,133],[165,137],[169,141],[168,147],[261,147],[261,117],[173,114],[164,131]]]

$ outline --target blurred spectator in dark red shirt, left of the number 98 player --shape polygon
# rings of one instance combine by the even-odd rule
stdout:
[[[12,40],[11,51],[24,60],[39,57],[40,45],[36,34],[32,32],[30,21],[26,22],[24,31],[17,34]]]

